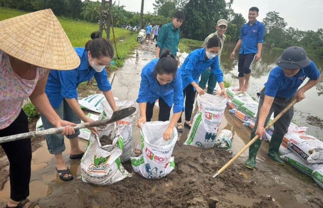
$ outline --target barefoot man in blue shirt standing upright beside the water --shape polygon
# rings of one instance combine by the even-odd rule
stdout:
[[[249,9],[249,22],[242,26],[239,41],[231,54],[231,59],[234,60],[236,52],[240,48],[238,62],[239,88],[236,91],[246,92],[248,90],[251,75],[250,66],[254,60],[259,61],[261,57],[263,35],[266,29],[261,22],[256,20],[259,15],[258,12],[257,7]]]

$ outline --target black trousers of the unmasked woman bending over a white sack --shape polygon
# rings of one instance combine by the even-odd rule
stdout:
[[[146,121],[151,121],[151,119],[153,117],[154,105],[155,105],[155,102],[153,104],[147,103],[147,106],[146,106]],[[165,101],[160,98],[159,99],[158,120],[159,121],[169,120],[170,109],[171,109],[171,106],[169,107],[168,104],[166,104]]]

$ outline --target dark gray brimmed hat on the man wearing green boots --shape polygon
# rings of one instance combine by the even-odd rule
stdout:
[[[284,50],[276,63],[284,69],[300,69],[309,66],[311,60],[307,57],[304,48],[292,46]]]

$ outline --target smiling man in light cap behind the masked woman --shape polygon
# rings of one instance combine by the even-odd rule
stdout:
[[[224,34],[227,31],[227,27],[228,27],[228,21],[226,19],[220,19],[217,23],[217,25],[215,26],[215,28],[217,29],[217,31],[215,33],[210,34],[209,36],[207,36],[204,40],[204,43],[202,45],[202,48],[205,48],[208,40],[213,37],[213,36],[218,36],[220,41],[221,41],[221,49],[218,53],[218,57],[219,57],[219,63],[221,64],[221,51],[223,49],[223,45],[224,45],[224,40],[226,39],[226,35]],[[202,75],[201,75],[201,80],[200,83],[198,84],[200,88],[202,88],[203,90],[206,87],[206,83],[208,84],[208,89],[207,89],[207,93],[208,94],[213,94],[214,88],[217,84],[217,80],[215,79],[213,73],[211,72],[211,69],[206,70]]]

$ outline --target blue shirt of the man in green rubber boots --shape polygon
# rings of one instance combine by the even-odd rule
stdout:
[[[283,68],[277,66],[271,70],[267,83],[265,83],[265,95],[283,99],[293,98],[307,77],[310,80],[318,80],[320,77],[320,72],[313,61],[290,78],[285,76]]]

